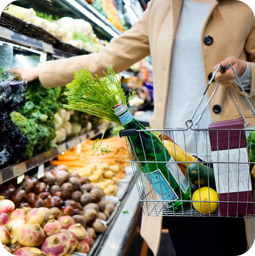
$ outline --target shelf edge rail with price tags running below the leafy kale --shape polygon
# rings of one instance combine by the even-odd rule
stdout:
[[[100,135],[104,131],[106,125],[107,123],[101,124],[96,129],[83,133],[82,135],[79,135],[71,140],[59,144],[57,148],[51,148],[51,150],[38,154],[37,156],[33,156],[32,158],[24,162],[0,170],[0,184],[9,181],[12,178],[16,178],[24,174],[25,172],[44,164],[45,162],[48,162],[49,160],[55,158],[57,155],[61,154],[62,152],[77,146],[84,140],[91,139],[93,137],[96,137],[97,135]],[[110,129],[114,126],[115,123],[110,123],[107,129]]]

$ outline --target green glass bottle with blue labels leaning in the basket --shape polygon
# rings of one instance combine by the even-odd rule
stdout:
[[[129,113],[127,106],[121,102],[113,107],[113,111],[119,117],[124,129],[145,129]],[[175,211],[182,210],[182,205],[183,208],[191,205],[190,202],[180,202],[180,200],[191,200],[191,188],[188,186],[188,180],[177,164],[174,163],[174,159],[164,148],[159,137],[153,132],[137,132],[137,135],[128,136],[128,140],[134,160],[148,162],[139,163],[139,165],[150,186],[156,191],[161,200],[174,201],[165,203],[166,207],[170,210],[174,208]],[[155,163],[155,161],[168,163]],[[181,185],[179,186],[179,184]]]

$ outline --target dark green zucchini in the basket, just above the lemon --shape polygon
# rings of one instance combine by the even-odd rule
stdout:
[[[191,164],[186,170],[186,178],[193,184],[200,184],[200,187],[208,187],[208,176],[209,187],[216,190],[214,171],[212,168],[204,164]]]

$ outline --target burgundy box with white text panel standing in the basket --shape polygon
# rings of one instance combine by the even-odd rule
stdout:
[[[208,128],[209,129],[244,129],[244,124],[243,124],[243,119],[234,119],[234,120],[212,123],[209,125]],[[229,137],[229,142],[228,142],[228,137]],[[247,144],[246,144],[244,131],[241,131],[241,133],[240,131],[229,131],[229,132],[228,131],[209,131],[209,138],[211,143],[212,154],[213,154],[213,151],[218,150],[217,157],[219,157],[219,162],[220,161],[228,162],[221,159],[221,156],[224,153],[225,153],[225,156],[227,155],[227,158],[229,157],[229,155],[231,155],[231,154],[228,154],[229,152],[228,148],[229,150],[236,149],[236,148],[239,149],[239,146],[240,146],[240,148],[243,151],[246,150]],[[219,154],[218,152],[220,152],[221,154]],[[238,162],[238,160],[230,161],[230,162]],[[242,162],[242,161],[239,161],[239,162]],[[248,159],[245,160],[244,162],[248,162]],[[213,164],[213,165],[214,165],[214,170],[217,170],[217,164]],[[228,165],[226,164],[226,166]],[[238,164],[232,164],[232,166],[234,166],[233,170],[237,172],[237,177],[238,177]],[[247,165],[243,165],[243,166],[247,166]],[[240,174],[240,168],[239,168],[239,174]],[[242,175],[242,177],[240,177],[239,175],[239,181],[240,181],[240,178],[243,178],[243,177],[244,175]],[[245,174],[245,179],[246,180],[248,179],[247,174]],[[250,175],[249,175],[249,179],[250,179]],[[215,181],[216,181],[216,177],[215,177]],[[237,178],[237,181],[238,181],[238,178]],[[234,182],[238,183],[237,181],[234,181]],[[216,184],[216,186],[218,185]],[[228,189],[229,189],[229,184],[228,184]],[[242,203],[242,202],[253,202],[252,191],[247,191],[247,190],[242,192],[240,191],[233,192],[233,193],[219,193],[218,194],[219,201],[239,202],[239,203],[219,203],[220,216],[245,215],[246,213],[253,214],[254,204]]]

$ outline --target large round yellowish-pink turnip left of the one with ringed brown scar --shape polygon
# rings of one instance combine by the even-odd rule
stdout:
[[[38,246],[43,243],[45,234],[39,224],[25,224],[18,230],[18,241],[23,246]]]

